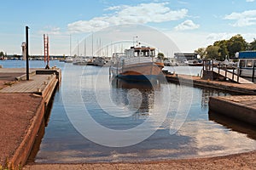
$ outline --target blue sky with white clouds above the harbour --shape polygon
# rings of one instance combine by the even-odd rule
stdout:
[[[0,51],[7,54],[21,54],[26,26],[30,27],[30,54],[44,54],[43,35],[48,34],[49,54],[68,55],[78,50],[84,38],[94,39],[102,29],[108,34],[108,42],[104,42],[108,44],[116,41],[117,27],[140,25],[140,30],[131,31],[124,40],[147,41],[150,38],[141,33],[149,30],[144,35],[151,39],[159,37],[157,34],[170,38],[177,46],[168,54],[172,55],[177,49],[193,53],[236,34],[253,42],[256,0],[9,0],[1,2],[0,22]],[[102,44],[102,39],[97,37],[94,43]],[[92,41],[84,41],[84,47]]]

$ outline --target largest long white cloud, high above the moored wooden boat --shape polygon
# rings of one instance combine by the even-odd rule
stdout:
[[[97,31],[107,26],[121,24],[147,24],[149,22],[165,22],[183,19],[188,9],[172,10],[168,3],[140,3],[137,6],[120,5],[106,8],[113,14],[95,17],[91,20],[79,20],[68,24],[68,31],[88,32]]]

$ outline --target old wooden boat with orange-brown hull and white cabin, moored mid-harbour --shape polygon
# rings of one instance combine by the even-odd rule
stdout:
[[[155,58],[155,48],[142,46],[113,54],[109,71],[129,81],[150,81],[159,77],[163,68],[164,63]]]

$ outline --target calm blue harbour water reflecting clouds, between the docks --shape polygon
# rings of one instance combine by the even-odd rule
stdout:
[[[1,61],[0,65],[24,67],[22,61]],[[58,61],[50,65],[61,67],[63,80],[55,94],[36,162],[149,161],[223,156],[256,149],[252,127],[208,114],[210,96],[230,94],[171,83],[127,83],[108,77],[108,68]],[[44,67],[44,62],[31,61],[31,67]],[[169,69],[192,75],[201,71],[199,67]],[[91,118],[124,135],[148,124],[122,139],[119,133],[99,131]],[[87,130],[86,138],[79,126]],[[148,131],[153,134],[137,141]],[[128,146],[113,147],[122,144]]]

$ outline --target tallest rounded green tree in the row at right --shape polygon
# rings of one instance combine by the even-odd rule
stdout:
[[[244,51],[247,49],[247,42],[240,34],[231,37],[227,42],[227,48],[229,50],[230,58],[235,58],[236,52]]]

